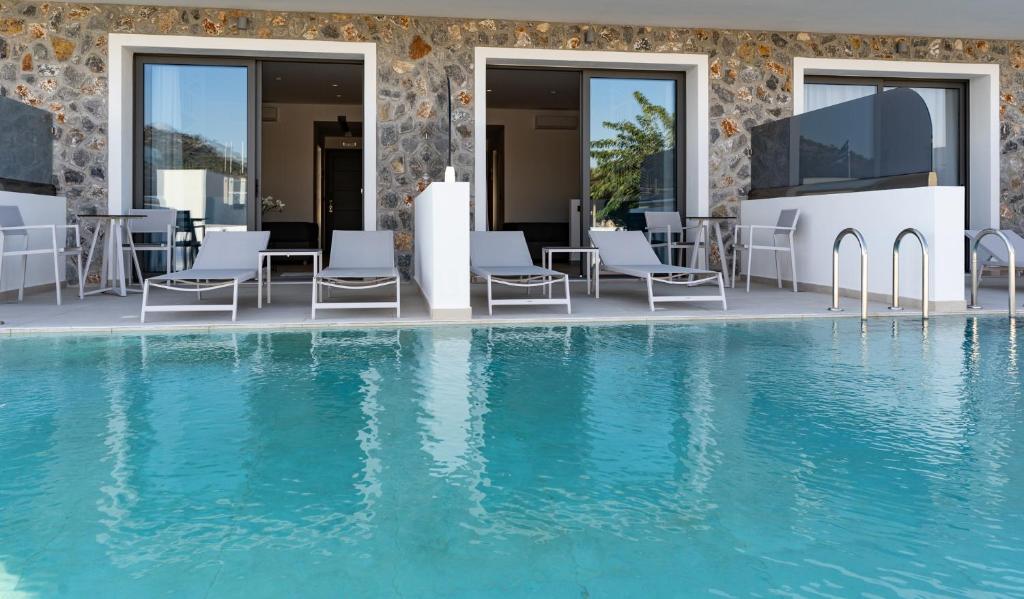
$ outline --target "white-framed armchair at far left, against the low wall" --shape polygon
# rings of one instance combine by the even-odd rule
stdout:
[[[49,242],[48,247],[32,249],[32,232]],[[59,233],[57,231],[60,231]],[[48,234],[47,234],[48,233]],[[68,234],[73,242],[68,243]],[[61,240],[62,238],[62,240]],[[60,243],[58,243],[60,240]],[[13,249],[13,243],[20,242],[20,249]],[[60,263],[74,260],[78,275],[78,299],[84,297],[85,281],[82,274],[82,241],[77,224],[31,224],[26,225],[17,206],[0,206],[0,283],[3,282],[3,263],[6,258],[22,258],[22,283],[17,288],[17,301],[25,299],[25,275],[29,268],[29,256],[50,255],[53,257],[53,280],[60,305]]]

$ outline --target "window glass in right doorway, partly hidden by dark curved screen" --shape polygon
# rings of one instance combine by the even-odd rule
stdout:
[[[915,91],[932,118],[933,169],[939,185],[967,186],[967,84],[962,81],[808,77],[806,111],[815,111],[895,88]]]

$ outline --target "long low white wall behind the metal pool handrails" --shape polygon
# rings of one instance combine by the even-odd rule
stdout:
[[[930,303],[934,311],[962,310],[964,293],[964,188],[914,187],[795,198],[748,200],[740,203],[742,224],[773,225],[779,212],[800,209],[797,227],[797,281],[808,291],[831,289],[833,244],[847,227],[858,229],[867,244],[868,292],[872,300],[892,294],[892,250],[896,236],[907,227],[920,230],[929,244]],[[770,243],[766,231],[757,243]],[[764,237],[761,237],[764,236]],[[921,305],[921,250],[912,237],[900,248],[900,298],[907,306]],[[860,252],[847,238],[840,249],[840,288],[844,296],[859,294]],[[788,256],[779,254],[782,279],[790,281]],[[745,272],[746,259],[741,266]],[[775,279],[770,252],[756,252],[755,279]],[[739,284],[737,283],[737,287]]]

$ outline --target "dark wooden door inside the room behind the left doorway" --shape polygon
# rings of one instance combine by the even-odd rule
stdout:
[[[324,252],[335,230],[362,230],[362,151],[324,153]]]

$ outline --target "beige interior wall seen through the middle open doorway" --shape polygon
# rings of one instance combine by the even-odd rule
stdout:
[[[537,115],[579,111],[488,109],[487,125],[505,127],[505,222],[568,222],[581,189],[580,129],[537,130]]]

